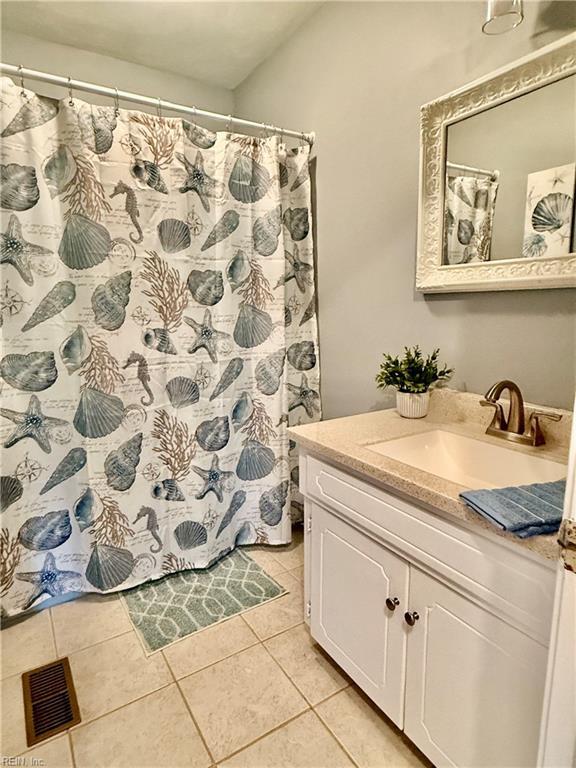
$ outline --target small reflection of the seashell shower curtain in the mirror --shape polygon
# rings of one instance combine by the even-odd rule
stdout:
[[[476,176],[446,178],[444,263],[490,261],[498,182]]]

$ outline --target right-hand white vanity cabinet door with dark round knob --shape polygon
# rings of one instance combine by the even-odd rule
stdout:
[[[546,649],[416,568],[404,730],[437,766],[536,765]]]

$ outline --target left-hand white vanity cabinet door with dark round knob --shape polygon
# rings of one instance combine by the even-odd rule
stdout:
[[[311,631],[368,696],[402,727],[408,564],[311,505]],[[397,598],[394,610],[386,598]]]

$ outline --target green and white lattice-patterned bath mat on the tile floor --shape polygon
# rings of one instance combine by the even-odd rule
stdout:
[[[287,591],[236,550],[210,568],[170,574],[122,594],[144,648],[152,653]]]

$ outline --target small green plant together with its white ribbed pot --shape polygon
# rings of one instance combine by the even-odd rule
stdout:
[[[376,376],[378,389],[394,387],[396,408],[400,416],[421,419],[428,413],[430,389],[439,382],[447,381],[453,368],[439,368],[439,349],[426,358],[420,347],[404,347],[403,357],[384,355],[384,361]]]

